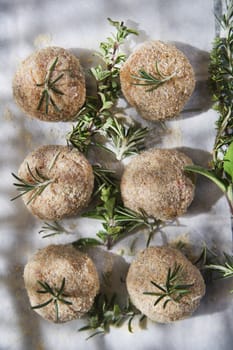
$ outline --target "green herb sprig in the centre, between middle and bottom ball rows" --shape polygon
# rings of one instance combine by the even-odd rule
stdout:
[[[139,227],[149,228],[148,245],[152,234],[162,225],[160,220],[147,215],[144,211],[137,213],[125,208],[119,188],[113,186],[103,186],[100,191],[100,204],[83,216],[102,221],[103,230],[98,231],[96,235],[108,249]]]

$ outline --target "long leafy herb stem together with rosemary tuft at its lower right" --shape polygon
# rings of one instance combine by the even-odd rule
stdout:
[[[116,34],[100,43],[97,55],[103,64],[90,69],[96,83],[96,96],[87,97],[85,106],[77,115],[76,125],[67,135],[67,141],[83,153],[87,153],[90,146],[108,150],[109,141],[114,146],[110,151],[116,153],[120,160],[143,147],[147,129],[127,126],[123,121],[117,121],[114,114],[113,107],[121,95],[120,68],[126,60],[119,49],[129,35],[137,35],[137,32],[127,28],[123,22],[110,18],[108,21],[115,27]],[[101,142],[98,136],[102,136]]]

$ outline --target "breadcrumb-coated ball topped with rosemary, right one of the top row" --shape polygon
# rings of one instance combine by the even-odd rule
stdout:
[[[137,48],[122,66],[120,80],[127,101],[148,120],[178,116],[195,87],[187,57],[161,41]]]

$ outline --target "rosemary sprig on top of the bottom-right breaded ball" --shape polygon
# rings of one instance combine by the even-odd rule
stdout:
[[[168,268],[164,285],[159,285],[154,281],[151,281],[151,284],[159,289],[159,292],[144,292],[143,294],[158,297],[154,302],[154,306],[165,299],[163,309],[170,301],[179,303],[185,295],[191,293],[190,288],[193,286],[193,284],[182,284],[182,266],[177,263],[175,263],[173,269]]]

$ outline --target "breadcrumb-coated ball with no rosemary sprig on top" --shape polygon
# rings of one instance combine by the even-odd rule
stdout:
[[[184,166],[192,164],[174,149],[155,149],[135,156],[121,178],[125,207],[157,219],[168,220],[184,214],[193,200],[194,179]]]

